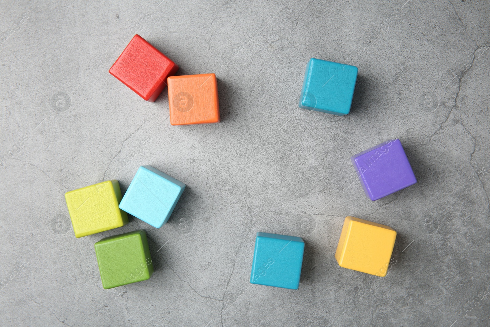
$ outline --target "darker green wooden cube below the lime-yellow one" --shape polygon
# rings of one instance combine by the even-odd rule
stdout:
[[[153,273],[144,230],[103,238],[95,244],[105,289],[148,279]]]

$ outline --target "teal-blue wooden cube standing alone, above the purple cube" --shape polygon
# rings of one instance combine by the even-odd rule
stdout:
[[[343,116],[350,112],[357,67],[311,58],[299,98],[299,107]]]

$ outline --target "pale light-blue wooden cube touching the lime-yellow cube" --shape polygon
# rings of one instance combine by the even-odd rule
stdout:
[[[153,227],[167,223],[185,184],[151,167],[141,166],[119,204],[121,210]]]

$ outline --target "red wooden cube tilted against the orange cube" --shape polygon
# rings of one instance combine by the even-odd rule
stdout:
[[[136,34],[109,73],[147,101],[155,101],[167,83],[167,77],[179,67]]]

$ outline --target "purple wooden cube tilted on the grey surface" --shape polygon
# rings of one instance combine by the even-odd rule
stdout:
[[[383,142],[350,157],[366,195],[376,201],[417,183],[400,140]]]

